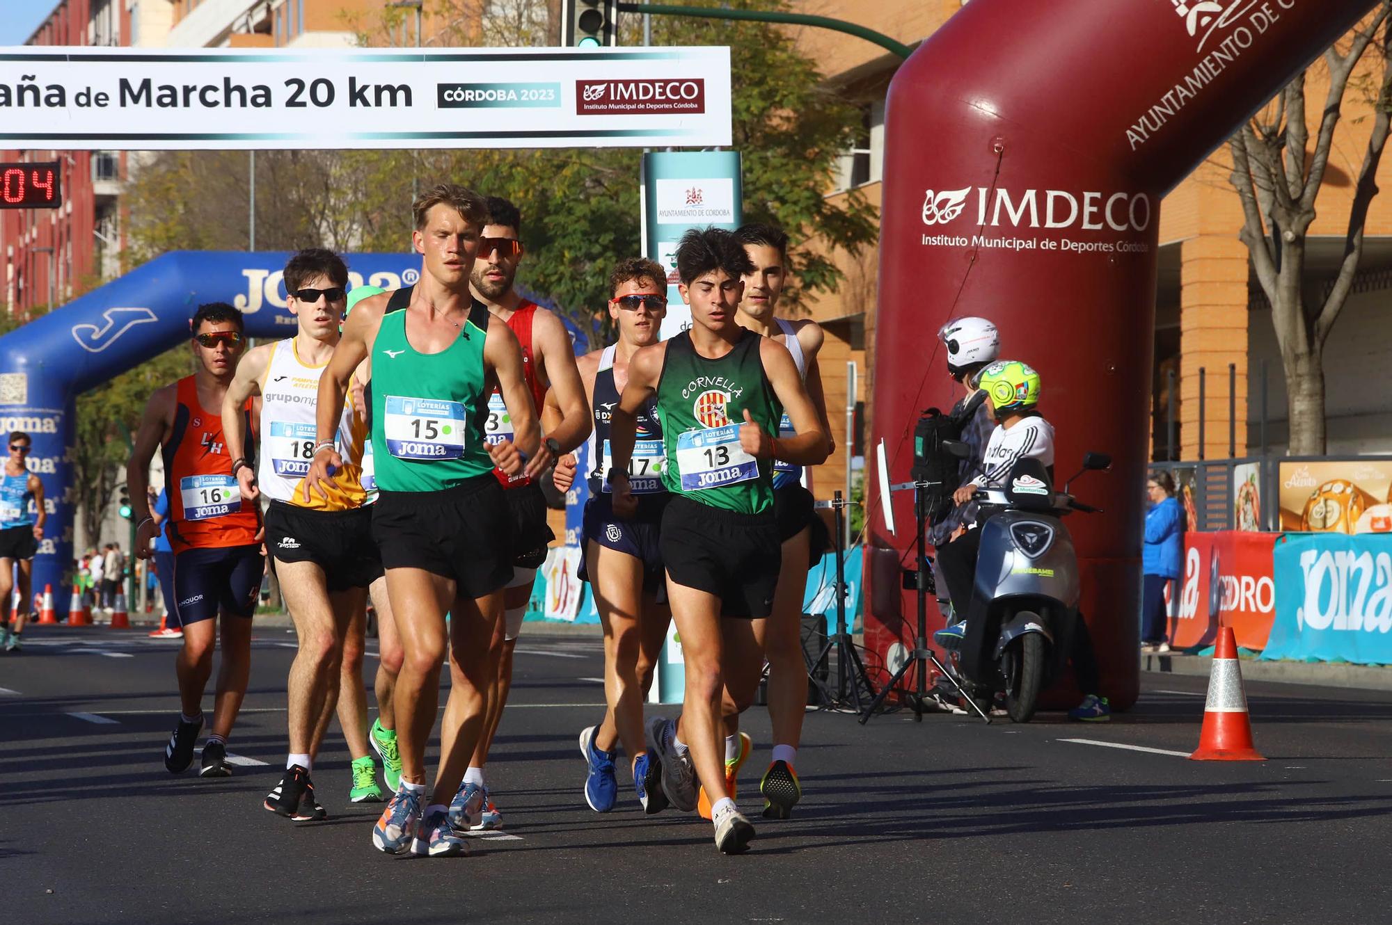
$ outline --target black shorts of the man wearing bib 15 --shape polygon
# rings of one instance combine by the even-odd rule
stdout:
[[[512,516],[491,472],[444,491],[379,491],[372,538],[381,565],[454,579],[461,597],[512,580]]]

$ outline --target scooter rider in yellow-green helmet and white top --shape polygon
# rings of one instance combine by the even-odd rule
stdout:
[[[976,388],[986,392],[986,405],[997,426],[981,456],[979,473],[954,492],[954,502],[959,506],[969,504],[979,488],[1004,488],[1011,469],[1020,459],[1043,462],[1052,481],[1054,426],[1037,409],[1040,374],[1019,360],[997,360],[981,369],[973,381]],[[981,531],[976,529],[974,520],[966,526],[960,536],[938,547],[938,568],[947,580],[952,609],[959,615],[967,613],[972,601],[981,544]],[[934,633],[933,640],[944,648],[955,648],[965,636],[963,619]],[[1094,722],[1109,719],[1107,698],[1096,693],[1101,686],[1097,658],[1083,619],[1077,620],[1069,655],[1077,686],[1084,693],[1083,702],[1069,711],[1069,716]]]

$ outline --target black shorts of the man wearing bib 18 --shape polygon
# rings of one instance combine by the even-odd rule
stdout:
[[[276,562],[313,562],[330,591],[365,588],[381,574],[372,510],[310,510],[284,501],[266,509],[266,549]]]

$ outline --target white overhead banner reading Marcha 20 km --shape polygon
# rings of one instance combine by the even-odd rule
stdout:
[[[706,147],[729,49],[0,49],[0,147]]]

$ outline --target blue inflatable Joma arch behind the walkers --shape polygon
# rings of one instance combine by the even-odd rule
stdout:
[[[33,437],[29,469],[43,481],[49,513],[33,565],[36,591],[52,584],[61,600],[64,572],[72,563],[77,396],[187,341],[188,321],[205,302],[231,302],[241,309],[251,337],[287,337],[295,328],[281,281],[288,259],[287,252],[166,253],[0,337],[0,431],[22,430]],[[352,285],[395,289],[419,277],[419,255],[344,259]],[[586,334],[567,325],[576,351],[587,349]]]

